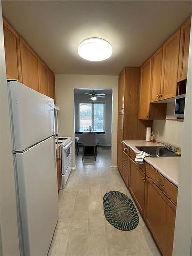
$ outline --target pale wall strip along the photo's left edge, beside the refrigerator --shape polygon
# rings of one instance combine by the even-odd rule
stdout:
[[[0,255],[19,253],[13,157],[0,3]]]

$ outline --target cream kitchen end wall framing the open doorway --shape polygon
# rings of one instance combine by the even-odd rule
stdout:
[[[72,166],[75,166],[75,125],[74,125],[74,88],[112,89],[112,159],[111,165],[117,166],[117,112],[118,112],[118,76],[101,75],[55,75],[56,104],[59,133],[73,139]]]

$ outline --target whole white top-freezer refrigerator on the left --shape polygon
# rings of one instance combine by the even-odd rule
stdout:
[[[8,81],[21,254],[47,255],[58,220],[53,99]]]

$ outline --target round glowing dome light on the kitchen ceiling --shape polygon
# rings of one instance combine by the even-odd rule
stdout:
[[[112,55],[112,46],[101,38],[88,38],[78,46],[78,54],[89,61],[102,61]]]

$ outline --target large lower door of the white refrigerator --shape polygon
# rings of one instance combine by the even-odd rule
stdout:
[[[58,220],[54,136],[14,154],[24,255],[47,255]]]

